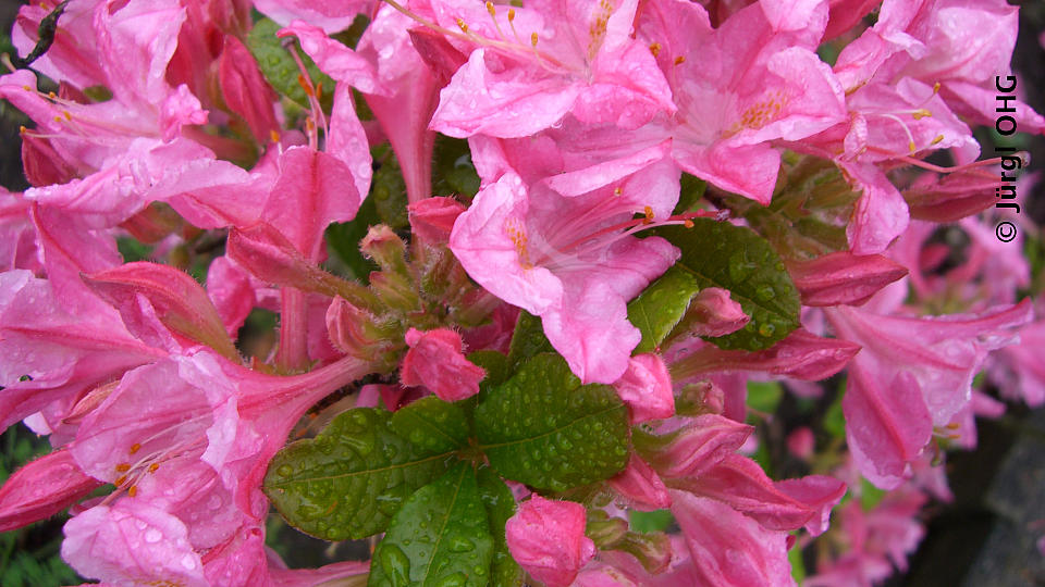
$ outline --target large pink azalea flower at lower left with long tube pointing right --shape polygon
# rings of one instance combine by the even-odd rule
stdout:
[[[118,489],[69,523],[66,560],[103,580],[160,577],[161,566],[143,575],[144,570],[127,566],[133,561],[121,554],[125,549],[100,546],[110,544],[107,533],[122,526],[121,520],[138,516],[160,530],[155,539],[142,539],[177,553],[175,562],[200,561],[202,552],[229,548],[242,538],[239,528],[256,526],[268,511],[261,478],[293,425],[316,401],[365,371],[358,360],[346,358],[304,375],[276,377],[201,351],[127,373],[84,419],[71,446],[86,473]],[[257,550],[262,552],[260,545]],[[201,562],[210,560],[208,552]]]

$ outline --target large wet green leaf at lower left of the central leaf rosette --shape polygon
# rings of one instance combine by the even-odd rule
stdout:
[[[291,525],[318,538],[384,530],[403,501],[454,459],[454,451],[415,447],[392,430],[390,420],[376,408],[339,414],[316,438],[275,454],[265,494]]]

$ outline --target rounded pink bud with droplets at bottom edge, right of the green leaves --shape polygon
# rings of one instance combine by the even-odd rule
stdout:
[[[585,536],[585,507],[534,495],[504,525],[512,558],[548,587],[566,587],[595,555]]]

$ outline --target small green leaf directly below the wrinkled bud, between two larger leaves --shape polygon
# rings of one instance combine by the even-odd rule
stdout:
[[[421,398],[392,414],[392,432],[429,452],[450,452],[468,442],[468,420],[459,405],[435,396]]]

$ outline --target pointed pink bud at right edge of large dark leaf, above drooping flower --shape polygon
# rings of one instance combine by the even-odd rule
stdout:
[[[907,275],[907,268],[881,254],[836,252],[788,265],[806,305],[860,305]]]

